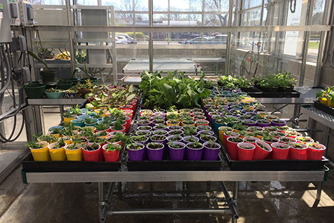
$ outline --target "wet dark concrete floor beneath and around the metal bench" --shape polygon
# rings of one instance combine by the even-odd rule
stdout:
[[[310,208],[315,200],[312,183],[241,182],[238,222],[333,222],[334,177],[324,183],[318,208]],[[180,183],[127,183],[122,197],[113,196],[113,206],[127,208],[208,208],[217,206],[222,197],[218,184],[189,183],[190,197],[182,197]],[[232,183],[227,183],[232,188]],[[198,197],[193,195],[197,194]],[[98,222],[97,183],[22,184],[20,167],[0,185],[0,223]],[[210,203],[210,205],[209,205]],[[218,203],[220,204],[220,203]],[[117,215],[107,222],[231,222],[231,215]]]

